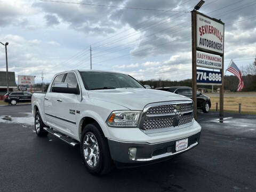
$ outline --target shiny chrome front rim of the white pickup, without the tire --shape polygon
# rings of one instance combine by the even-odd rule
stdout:
[[[87,165],[95,167],[99,163],[99,144],[95,135],[91,132],[87,132],[83,139],[83,152]]]

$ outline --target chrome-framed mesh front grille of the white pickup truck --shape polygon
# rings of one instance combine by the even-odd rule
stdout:
[[[171,128],[175,130],[175,127],[177,127],[177,125],[173,127],[173,121],[174,121],[174,118],[177,117],[175,114],[176,112],[174,113],[174,109],[177,109],[176,107],[177,105],[180,106],[180,110],[178,111],[181,112],[178,126],[185,125],[193,121],[194,106],[193,106],[193,102],[191,101],[180,101],[180,102],[170,101],[170,102],[159,103],[159,105],[157,106],[156,105],[157,103],[154,103],[153,106],[149,104],[148,106],[145,107],[146,108],[144,112],[145,115],[142,118],[140,129],[145,131],[150,131],[150,130]]]

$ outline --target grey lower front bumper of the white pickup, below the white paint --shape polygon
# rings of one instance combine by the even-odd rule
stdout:
[[[146,143],[146,142],[123,142],[108,139],[111,157],[114,161],[119,163],[140,164],[162,161],[170,157],[183,153],[198,145],[201,132],[190,135],[185,138],[176,140],[159,142],[159,143]],[[181,139],[188,138],[188,148],[180,151],[175,151],[175,143]],[[137,148],[136,157],[131,159],[129,157],[129,148]]]

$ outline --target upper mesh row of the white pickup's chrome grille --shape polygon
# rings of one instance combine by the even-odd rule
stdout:
[[[173,113],[175,104],[171,105],[161,105],[161,106],[154,106],[150,107],[147,110],[148,115],[162,115],[162,114],[171,114]],[[182,103],[180,104],[180,111],[190,111],[193,110],[193,103]]]

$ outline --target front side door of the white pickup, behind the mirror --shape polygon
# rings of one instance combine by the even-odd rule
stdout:
[[[64,83],[67,83],[69,88],[79,87],[77,76],[74,72],[67,73]],[[61,93],[61,98],[59,99],[61,99],[61,101],[58,103],[58,109],[61,111],[61,118],[65,119],[61,121],[61,126],[65,132],[77,137],[76,105],[78,100],[81,100],[81,93],[79,95]]]

